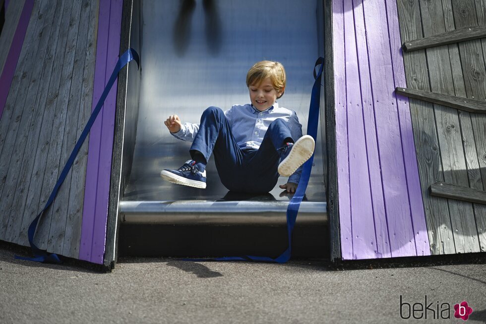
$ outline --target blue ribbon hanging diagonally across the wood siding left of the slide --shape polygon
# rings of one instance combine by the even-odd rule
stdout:
[[[53,203],[54,198],[58,194],[59,188],[61,187],[62,182],[64,182],[64,179],[67,176],[67,173],[71,169],[71,166],[74,162],[74,159],[76,158],[76,155],[79,152],[79,149],[81,148],[81,145],[83,144],[84,140],[86,139],[86,136],[88,136],[89,130],[93,126],[93,123],[96,120],[96,117],[98,116],[98,113],[101,111],[101,108],[103,107],[103,103],[106,100],[106,97],[108,96],[108,93],[110,92],[110,89],[112,88],[113,84],[115,83],[115,80],[117,79],[118,73],[120,70],[123,68],[123,66],[127,65],[128,62],[131,60],[135,60],[137,63],[137,66],[140,66],[140,59],[138,57],[138,53],[135,52],[134,49],[130,48],[128,49],[125,53],[122,54],[120,59],[117,62],[117,65],[115,66],[115,69],[112,72],[112,76],[108,80],[108,83],[105,87],[105,90],[103,90],[103,94],[101,95],[100,99],[98,100],[98,103],[96,104],[95,109],[91,113],[91,117],[88,120],[88,123],[84,127],[83,132],[81,133],[81,136],[79,136],[79,139],[74,146],[71,155],[69,156],[69,159],[66,162],[66,165],[64,165],[64,169],[62,169],[61,176],[58,179],[58,182],[56,183],[56,186],[54,186],[54,189],[49,196],[49,199],[46,202],[46,205],[44,206],[44,209],[37,215],[37,217],[32,221],[32,223],[29,226],[28,230],[28,237],[29,237],[29,243],[30,247],[32,248],[32,253],[34,254],[34,258],[25,258],[25,257],[19,257],[15,256],[15,259],[21,259],[21,260],[30,260],[30,261],[37,261],[37,262],[49,262],[49,263],[61,263],[61,260],[59,259],[58,255],[56,254],[49,254],[44,250],[39,249],[35,244],[34,244],[34,235],[35,231],[37,229],[37,223],[39,222],[39,219],[41,218],[42,214],[46,211],[46,209]]]

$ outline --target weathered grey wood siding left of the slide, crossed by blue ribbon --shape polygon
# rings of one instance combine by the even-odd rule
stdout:
[[[89,118],[98,8],[98,0],[33,3],[0,120],[0,240],[28,245],[27,228]],[[72,258],[79,257],[87,150],[85,142],[35,240]]]

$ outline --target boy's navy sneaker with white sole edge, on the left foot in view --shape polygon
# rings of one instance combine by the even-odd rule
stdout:
[[[177,170],[162,170],[160,176],[174,184],[206,188],[206,170],[199,171],[194,160],[185,161],[184,165]]]

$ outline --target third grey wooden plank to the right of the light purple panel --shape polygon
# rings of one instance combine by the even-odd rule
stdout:
[[[443,1],[444,3],[449,2]],[[478,2],[474,0],[464,0],[460,3],[452,1],[452,13],[456,28],[472,26],[478,24],[478,18],[475,14]],[[484,14],[484,13],[483,13]],[[484,21],[482,21],[484,22]],[[484,41],[484,40],[483,40]],[[459,44],[459,53],[461,56],[462,70],[464,74],[466,94],[468,98],[486,100],[486,64],[484,47],[481,40],[474,40]],[[485,190],[486,185],[486,122],[483,115],[471,114],[471,125],[474,133],[474,140],[476,143],[476,152],[479,162],[479,171],[482,178],[482,190]],[[478,182],[471,182],[470,187],[480,189],[481,184]],[[477,233],[480,240],[480,245],[483,251],[486,248],[486,210],[484,207],[475,206]],[[483,230],[481,230],[483,229]]]

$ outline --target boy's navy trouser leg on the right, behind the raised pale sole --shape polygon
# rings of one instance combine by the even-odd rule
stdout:
[[[284,142],[292,138],[287,123],[282,119],[273,121],[263,136],[260,148],[252,154],[245,156],[245,166],[255,186],[253,192],[268,193],[278,181],[278,165],[280,162],[280,151]]]

